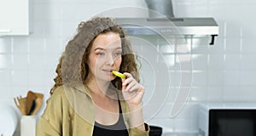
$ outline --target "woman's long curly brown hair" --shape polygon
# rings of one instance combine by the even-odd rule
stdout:
[[[121,38],[123,50],[120,72],[132,72],[133,77],[139,82],[137,71],[137,57],[132,52],[131,43],[125,38],[125,31],[117,24],[116,20],[108,17],[96,17],[86,22],[81,22],[77,28],[77,33],[72,40],[67,42],[64,53],[61,55],[59,64],[56,68],[57,76],[55,85],[50,89],[53,94],[55,88],[63,84],[73,85],[75,82],[85,83],[88,76],[89,66],[87,65],[90,55],[90,48],[99,34],[108,32],[118,33]],[[114,88],[121,89],[120,78],[113,81]]]

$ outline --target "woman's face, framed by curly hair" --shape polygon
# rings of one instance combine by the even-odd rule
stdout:
[[[92,43],[89,55],[89,77],[112,81],[112,71],[119,71],[122,61],[122,47],[119,34],[108,32],[100,34]]]

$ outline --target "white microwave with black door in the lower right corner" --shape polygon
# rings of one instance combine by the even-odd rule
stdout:
[[[199,105],[200,136],[256,136],[256,104]]]

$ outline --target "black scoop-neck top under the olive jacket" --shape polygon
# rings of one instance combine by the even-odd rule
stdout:
[[[113,125],[102,125],[95,122],[93,129],[93,136],[128,136],[128,131],[125,126],[124,118],[122,116],[122,109],[119,101],[119,120]]]

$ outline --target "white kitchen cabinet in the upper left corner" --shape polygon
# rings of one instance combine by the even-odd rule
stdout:
[[[29,0],[0,0],[0,36],[29,34]]]

